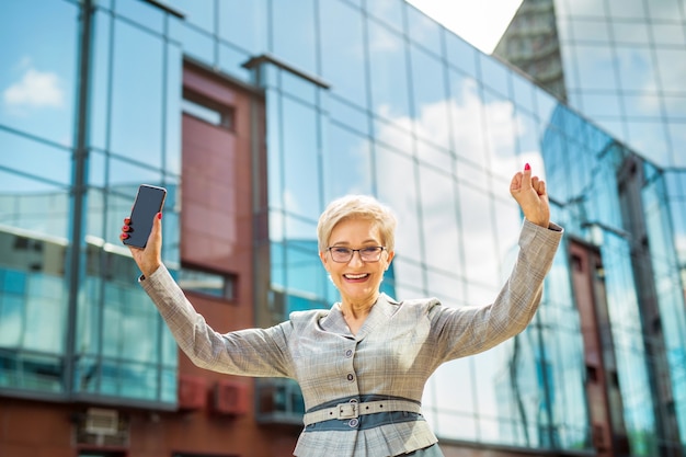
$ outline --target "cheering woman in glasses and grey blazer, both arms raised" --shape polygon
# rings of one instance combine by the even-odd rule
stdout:
[[[140,284],[196,365],[299,382],[306,414],[294,455],[442,456],[421,414],[427,378],[442,363],[526,328],[562,237],[549,220],[546,184],[528,164],[513,176],[510,192],[526,219],[519,255],[495,301],[480,308],[446,308],[433,298],[396,301],[379,293],[395,255],[396,219],[371,197],[338,199],[319,220],[319,256],[341,301],[294,312],[270,329],[218,334],[206,324],[162,264],[161,214],[146,249],[130,249]],[[125,225],[123,240],[127,230]]]

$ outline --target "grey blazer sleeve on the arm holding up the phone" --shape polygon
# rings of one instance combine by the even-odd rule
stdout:
[[[290,322],[229,333],[213,330],[164,265],[140,285],[152,299],[179,347],[198,367],[230,375],[293,377],[287,351]]]

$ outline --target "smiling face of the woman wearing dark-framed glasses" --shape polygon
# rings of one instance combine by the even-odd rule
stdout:
[[[384,245],[379,229],[365,219],[347,219],[335,225],[329,238],[329,247],[362,249]],[[320,252],[324,269],[341,293],[343,302],[371,305],[379,295],[384,272],[388,270],[393,252],[382,251],[377,262],[364,262],[354,252],[348,262],[334,262],[329,251]]]

